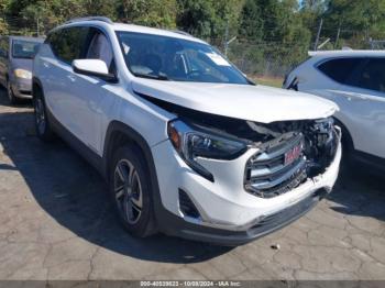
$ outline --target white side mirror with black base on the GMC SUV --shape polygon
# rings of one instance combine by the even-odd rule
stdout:
[[[77,74],[99,77],[108,82],[118,81],[117,76],[108,71],[106,63],[99,59],[76,59],[73,69]]]

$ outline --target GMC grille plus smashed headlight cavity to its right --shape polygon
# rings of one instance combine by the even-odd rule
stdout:
[[[340,140],[331,118],[270,124],[275,136],[257,145],[248,162],[244,188],[272,198],[288,192],[308,178],[323,174],[334,159]]]

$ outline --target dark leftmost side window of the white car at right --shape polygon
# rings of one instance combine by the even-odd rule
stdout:
[[[353,71],[364,62],[364,58],[331,59],[318,66],[318,69],[339,84],[346,84]]]

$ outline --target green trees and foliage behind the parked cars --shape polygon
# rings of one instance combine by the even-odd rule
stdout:
[[[0,34],[44,34],[68,19],[106,15],[184,30],[220,49],[237,36],[229,58],[253,74],[275,75],[307,57],[321,19],[323,48],[385,38],[385,0],[0,0]]]

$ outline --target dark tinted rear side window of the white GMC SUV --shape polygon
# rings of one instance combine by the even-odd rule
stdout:
[[[63,29],[52,33],[47,42],[56,57],[70,64],[84,53],[87,33],[88,27]]]

